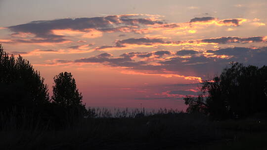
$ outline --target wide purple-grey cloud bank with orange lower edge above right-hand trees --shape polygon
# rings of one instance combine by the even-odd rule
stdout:
[[[164,55],[160,59],[138,59],[153,58],[156,56],[156,53],[164,53]],[[109,67],[116,67],[122,70],[121,73],[128,75],[181,77],[194,82],[200,82],[209,75],[219,74],[230,62],[257,66],[266,65],[267,47],[221,48],[198,52],[197,55],[191,55],[190,57],[180,57],[180,55],[174,55],[174,53],[171,51],[130,52],[118,57],[109,53],[102,53],[88,58],[76,59],[71,61],[71,63],[98,63]],[[197,52],[180,50],[178,51],[179,53],[188,55],[196,54]]]

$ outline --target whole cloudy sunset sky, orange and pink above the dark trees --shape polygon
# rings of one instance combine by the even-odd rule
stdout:
[[[185,110],[230,62],[267,65],[266,0],[0,0],[0,43],[52,95],[71,72],[87,107]]]

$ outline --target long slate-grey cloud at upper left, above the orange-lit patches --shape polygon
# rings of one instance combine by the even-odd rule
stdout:
[[[36,38],[43,38],[43,40],[53,40],[53,42],[62,42],[64,36],[55,35],[53,30],[76,30],[82,32],[89,32],[89,29],[98,30],[101,32],[124,32],[124,30],[129,30],[138,27],[138,25],[154,25],[163,24],[161,21],[154,21],[149,18],[132,18],[133,16],[126,15],[112,15],[106,17],[92,17],[92,18],[66,18],[66,19],[56,19],[56,20],[40,20],[32,21],[30,23],[9,26],[7,29],[14,32],[13,35],[18,33],[31,33],[34,34]],[[127,26],[127,25],[132,25]],[[127,31],[129,32],[129,31]],[[40,39],[29,40],[31,42],[42,42]],[[37,40],[37,41],[36,41]],[[13,40],[11,42],[24,42],[26,40]],[[47,41],[46,41],[47,42]]]

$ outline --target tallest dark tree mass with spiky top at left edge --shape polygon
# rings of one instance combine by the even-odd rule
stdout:
[[[0,111],[40,110],[49,103],[47,85],[40,73],[20,55],[4,52],[0,44]]]

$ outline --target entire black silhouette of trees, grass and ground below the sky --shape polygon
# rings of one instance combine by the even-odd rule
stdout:
[[[85,108],[71,73],[40,73],[0,45],[0,148],[3,150],[266,149],[267,67],[232,63],[186,96],[178,110]],[[232,118],[241,119],[232,119]],[[210,119],[212,118],[212,119]],[[224,121],[218,121],[228,119]],[[253,145],[253,147],[251,146]]]

